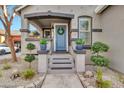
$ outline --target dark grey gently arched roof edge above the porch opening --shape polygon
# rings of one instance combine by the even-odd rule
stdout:
[[[73,14],[66,14],[66,13],[56,13],[56,12],[39,12],[39,13],[31,13],[31,14],[25,14],[25,18],[33,19],[33,18],[42,18],[42,17],[56,17],[56,18],[67,18],[67,19],[73,19]]]

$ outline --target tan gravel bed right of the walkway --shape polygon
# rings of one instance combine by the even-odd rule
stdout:
[[[108,68],[102,68],[103,69],[103,80],[110,80],[112,82],[112,88],[124,88],[124,82],[120,81],[119,76],[123,76],[120,73],[117,73],[115,71],[112,71]],[[78,76],[86,88],[96,88],[96,66],[93,65],[86,65],[86,71],[91,71],[94,73],[93,77],[84,77],[83,73],[78,73]],[[123,78],[124,79],[124,78]]]

